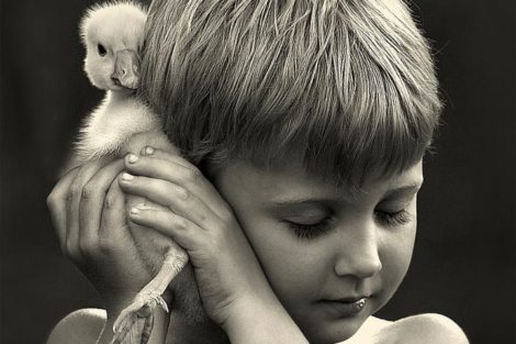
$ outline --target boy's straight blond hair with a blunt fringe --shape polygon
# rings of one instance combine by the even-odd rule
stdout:
[[[349,181],[423,157],[441,102],[402,1],[155,0],[142,96],[192,160],[302,153]]]

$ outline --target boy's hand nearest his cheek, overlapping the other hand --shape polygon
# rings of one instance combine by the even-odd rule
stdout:
[[[136,206],[131,220],[187,249],[213,321],[224,328],[243,307],[276,298],[231,207],[195,166],[147,147],[126,158],[125,168],[131,175],[119,179],[122,190],[161,206]]]

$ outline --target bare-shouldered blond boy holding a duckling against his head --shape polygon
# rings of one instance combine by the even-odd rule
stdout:
[[[161,204],[130,219],[191,259],[149,343],[467,343],[442,315],[371,317],[408,268],[441,107],[402,2],[159,0],[147,29],[142,96],[186,158],[143,147],[58,182],[59,238],[106,313],[69,315],[49,343],[108,343],[159,265],[124,195]]]

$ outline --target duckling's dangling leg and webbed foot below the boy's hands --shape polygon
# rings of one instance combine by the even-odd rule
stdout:
[[[111,344],[146,344],[154,326],[154,311],[157,306],[168,312],[167,302],[161,295],[170,281],[188,263],[187,253],[173,245],[165,256],[164,265],[116,319]]]

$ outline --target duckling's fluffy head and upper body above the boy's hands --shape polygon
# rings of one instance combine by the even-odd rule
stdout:
[[[158,118],[134,95],[145,21],[145,10],[134,2],[98,4],[82,19],[85,71],[93,86],[106,92],[80,129],[76,143],[77,165],[120,154],[133,134],[160,127]]]

